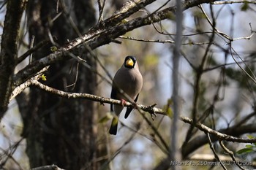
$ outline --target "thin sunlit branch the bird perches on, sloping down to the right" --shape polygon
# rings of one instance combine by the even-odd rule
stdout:
[[[44,85],[41,82],[38,82],[37,80],[31,80],[31,85],[34,85],[37,88],[45,90],[48,93],[53,93],[53,94],[56,94],[58,96],[65,97],[65,98],[84,98],[84,99],[89,99],[91,101],[99,101],[100,104],[105,104],[105,103],[117,104],[120,106],[124,105],[124,107],[132,107],[132,105],[133,105],[132,103],[130,103],[128,101],[125,104],[122,104],[122,102],[119,100],[115,100],[112,98],[105,98],[102,96],[96,96],[96,95],[92,95],[92,94],[88,94],[88,93],[64,92],[62,90],[50,88],[49,86]],[[155,105],[156,104],[153,104],[150,106],[145,106],[143,104],[137,104],[136,109],[141,109],[145,112],[149,112],[150,114],[167,115],[164,110],[154,107]],[[239,135],[245,134],[245,133],[256,132],[256,125],[254,125],[254,124],[244,125],[239,128],[236,128],[236,125],[235,125],[230,128],[225,128],[225,129],[221,129],[219,131],[214,131],[212,128],[208,128],[206,125],[203,125],[202,123],[193,123],[193,120],[189,117],[180,116],[179,118],[184,123],[189,123],[190,125],[195,125],[195,127],[198,128],[200,131],[203,131],[205,133],[213,135],[214,137],[211,137],[212,142],[216,142],[217,140],[225,140],[227,142],[240,142],[240,143],[255,143],[256,142],[256,138],[255,139],[245,139],[245,138],[235,137],[235,136],[239,136]],[[206,144],[208,142],[208,138],[205,135],[203,137],[206,138],[206,142],[203,142],[203,143],[200,142],[200,146],[202,146],[203,144]],[[197,139],[199,139],[199,138],[200,138],[200,136],[197,137]],[[204,139],[203,139],[203,141],[204,141]],[[198,143],[198,141],[195,143]],[[190,142],[189,142],[189,144],[187,144],[187,145],[190,146],[192,144],[190,144]],[[193,149],[195,150],[197,148],[193,148]],[[192,152],[193,150],[189,150],[189,151]]]

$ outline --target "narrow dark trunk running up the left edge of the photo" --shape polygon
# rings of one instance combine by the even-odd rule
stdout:
[[[5,15],[4,30],[1,36],[0,119],[7,110],[10,94],[12,92],[12,75],[18,54],[18,31],[25,6],[25,0],[7,1],[7,13]]]

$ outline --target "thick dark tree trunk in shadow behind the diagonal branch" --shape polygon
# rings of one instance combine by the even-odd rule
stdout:
[[[73,26],[77,26],[83,34],[94,24],[91,1],[63,2],[59,1],[57,7],[56,1],[29,1],[28,28],[29,36],[35,37],[34,45],[48,39],[50,34],[56,37],[59,45],[64,45],[68,39],[78,36]],[[56,12],[57,9],[59,12]],[[53,45],[38,50],[32,59],[51,53],[50,46]],[[88,54],[80,57],[96,69],[93,57]],[[68,87],[75,82],[77,72],[75,88]],[[84,66],[78,67],[74,59],[50,66],[45,74],[47,80],[43,83],[60,90],[95,93],[97,88],[96,74]],[[31,168],[54,163],[63,169],[97,169],[94,162],[97,153],[97,131],[94,125],[97,112],[94,102],[60,98],[37,88],[30,88],[29,96],[25,98],[21,95],[18,100]]]

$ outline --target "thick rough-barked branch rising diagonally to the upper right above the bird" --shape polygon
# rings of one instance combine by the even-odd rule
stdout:
[[[142,7],[151,3],[152,1],[148,0],[143,2],[145,3],[138,5],[138,7],[136,6],[136,10],[132,12],[138,11],[138,9],[141,9]],[[184,1],[182,7],[183,9],[188,9],[190,7],[195,7],[198,4],[211,2],[212,0]],[[83,47],[83,45],[86,45],[86,49],[83,49],[85,50],[83,53],[86,53],[89,51],[89,48],[91,48],[90,50],[94,50],[97,47],[106,45],[112,42],[113,39],[118,38],[118,36],[124,35],[135,28],[150,25],[151,23],[157,23],[160,20],[165,20],[167,18],[172,18],[172,16],[174,16],[173,12],[176,12],[176,6],[162,9],[161,11],[155,12],[151,15],[135,18],[134,20],[130,20],[127,23],[122,23],[121,20],[123,20],[124,18],[119,17],[113,17],[108,20],[105,20],[102,23],[100,23],[100,26],[102,27],[97,25],[94,28],[91,28],[91,30],[88,33],[84,34],[82,37],[74,39],[72,42],[69,42],[69,44],[65,45],[64,47],[59,48],[59,50],[55,53],[52,53],[44,58],[41,58],[39,61],[35,61],[31,65],[26,66],[26,68],[24,68],[23,70],[20,70],[20,72],[18,72],[18,74],[16,74],[14,77],[15,85],[18,86],[21,83],[28,80],[29,78],[33,77],[35,73],[39,72],[39,70],[45,66],[48,66],[52,63],[56,63],[58,61],[67,60],[67,55],[69,53],[79,55],[81,50],[80,47]],[[125,12],[122,13],[122,16],[127,16],[125,14]],[[132,13],[128,11],[128,14],[131,15]],[[120,24],[118,25],[117,23]]]

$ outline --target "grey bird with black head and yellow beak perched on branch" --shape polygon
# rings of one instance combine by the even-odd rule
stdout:
[[[116,72],[115,77],[113,78],[111,98],[121,100],[122,104],[125,103],[125,100],[128,100],[120,90],[122,90],[129,98],[133,101],[138,100],[140,90],[143,86],[143,78],[140,74],[139,66],[136,61],[136,58],[133,56],[127,56],[124,59],[124,63],[120,69]],[[117,116],[120,115],[121,111],[124,109],[122,106],[110,104],[111,112],[115,112]],[[129,116],[129,113],[132,112],[132,107],[127,107],[127,112],[124,115],[124,118]],[[109,130],[110,134],[116,135],[118,125],[118,117],[113,117],[111,127]]]

